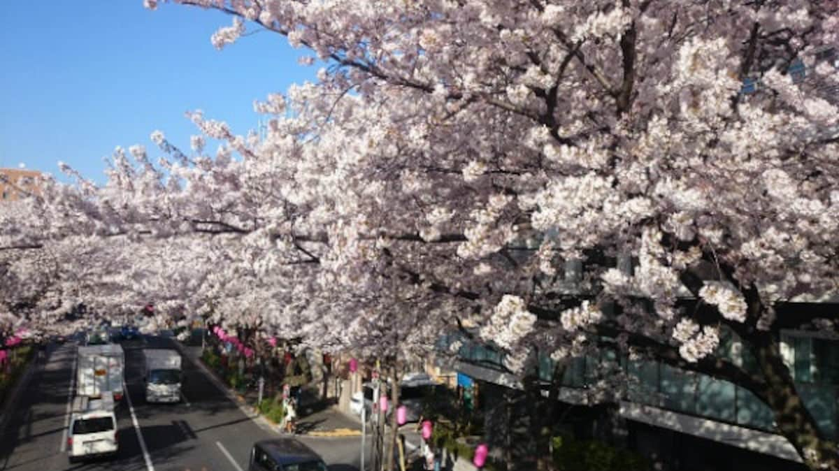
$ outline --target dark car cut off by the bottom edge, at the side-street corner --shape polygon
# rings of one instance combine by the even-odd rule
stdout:
[[[274,438],[253,443],[248,471],[326,471],[326,463],[294,438]]]

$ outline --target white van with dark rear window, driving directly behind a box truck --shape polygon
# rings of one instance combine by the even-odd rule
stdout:
[[[117,456],[117,416],[113,406],[113,397],[109,393],[97,400],[85,396],[76,397],[70,416],[70,429],[67,431],[70,463],[80,458]]]

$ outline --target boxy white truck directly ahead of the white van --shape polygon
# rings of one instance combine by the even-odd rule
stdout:
[[[76,396],[97,399],[110,392],[115,401],[122,401],[125,352],[122,345],[86,345],[78,349]]]

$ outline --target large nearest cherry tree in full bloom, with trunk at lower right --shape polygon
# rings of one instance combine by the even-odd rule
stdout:
[[[176,3],[233,15],[217,48],[249,22],[330,64],[288,94],[307,137],[278,118],[259,147],[231,139],[296,165],[279,173],[297,190],[283,207],[332,228],[326,272],[469,302],[451,316],[482,325],[514,370],[533,345],[561,360],[597,335],[732,380],[811,467],[839,466],[779,354],[780,329],[835,316],[789,303],[836,282],[836,73],[817,60],[835,4]],[[633,272],[614,267],[626,257]],[[558,262],[578,260],[585,289],[563,292]],[[758,371],[715,355],[720,329]]]

